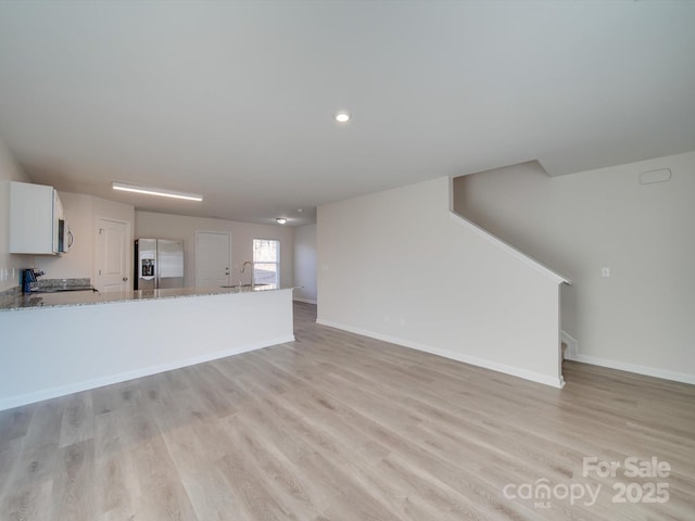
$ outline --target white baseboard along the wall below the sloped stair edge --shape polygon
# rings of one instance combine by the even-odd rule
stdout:
[[[464,364],[470,364],[471,366],[482,367],[484,369],[490,369],[492,371],[502,372],[504,374],[509,374],[511,377],[522,378],[525,380],[530,380],[536,383],[543,383],[545,385],[551,385],[553,387],[561,389],[565,386],[565,380],[563,377],[553,378],[546,374],[541,374],[539,372],[527,371],[525,369],[519,369],[518,367],[507,366],[505,364],[500,364],[493,360],[488,360],[485,358],[477,358],[475,356],[463,355],[460,353],[453,353],[451,351],[441,350],[439,347],[433,347],[431,345],[420,344],[417,342],[410,342],[409,340],[399,339],[395,336],[390,336],[388,334],[375,333],[374,331],[367,331],[364,329],[353,328],[351,326],[345,326],[344,323],[333,322],[331,320],[317,319],[316,323],[320,326],[327,326],[329,328],[341,329],[343,331],[348,331],[350,333],[359,334],[362,336],[368,336],[375,340],[381,340],[383,342],[389,342],[391,344],[396,344],[403,347],[408,347],[410,350],[421,351],[425,353],[430,353],[432,355],[438,355],[443,358],[450,358],[456,361],[463,361]]]

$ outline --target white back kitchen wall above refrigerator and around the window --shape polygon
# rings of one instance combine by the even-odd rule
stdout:
[[[280,283],[293,284],[293,232],[291,227],[253,225],[223,219],[206,219],[182,215],[136,212],[135,239],[182,239],[185,241],[185,279],[187,287],[195,285],[195,231],[227,231],[231,233],[231,274],[237,283],[245,260],[253,260],[253,240],[280,241]]]

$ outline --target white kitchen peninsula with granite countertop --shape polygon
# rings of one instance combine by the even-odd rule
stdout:
[[[293,288],[0,296],[0,410],[294,341]]]

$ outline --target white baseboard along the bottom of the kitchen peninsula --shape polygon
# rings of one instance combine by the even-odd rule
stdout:
[[[264,347],[270,347],[271,345],[285,344],[287,342],[294,342],[294,335],[279,336],[265,342],[258,342],[255,344],[249,344],[241,347],[233,347],[231,350],[218,351],[204,356],[197,356],[192,358],[186,358],[184,360],[176,360],[169,364],[162,364],[159,366],[144,367],[135,371],[121,372],[118,374],[111,374],[109,377],[96,378],[92,380],[85,380],[81,382],[71,383],[67,385],[61,385],[58,387],[50,387],[34,393],[21,394],[17,396],[10,396],[8,398],[0,399],[0,410],[11,409],[13,407],[20,407],[22,405],[34,404],[37,402],[43,402],[45,399],[58,398],[59,396],[65,396],[67,394],[79,393],[81,391],[89,391],[90,389],[103,387],[104,385],[111,385],[114,383],[126,382],[128,380],[135,380],[136,378],[149,377],[159,372],[170,371],[174,369],[180,369],[181,367],[195,366],[205,361],[216,360],[218,358],[225,358],[227,356],[240,355],[241,353],[248,353],[250,351],[262,350]]]

